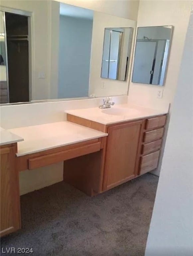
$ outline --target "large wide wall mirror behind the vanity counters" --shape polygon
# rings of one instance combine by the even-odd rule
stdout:
[[[1,104],[127,94],[135,21],[50,0],[2,0],[0,19]],[[101,77],[105,28],[122,81]]]

